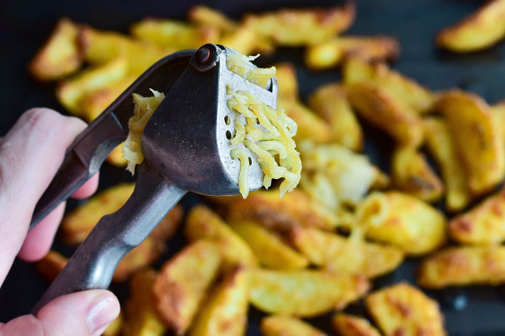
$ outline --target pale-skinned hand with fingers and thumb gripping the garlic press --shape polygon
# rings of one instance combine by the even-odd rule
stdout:
[[[37,261],[50,249],[65,204],[30,232],[28,225],[37,200],[62,164],[66,148],[85,127],[80,119],[35,108],[21,115],[0,139],[0,286],[16,256]],[[89,197],[97,186],[98,176],[93,176],[72,197]],[[0,336],[101,335],[119,310],[118,299],[108,290],[75,292],[51,301],[36,316],[0,323]]]

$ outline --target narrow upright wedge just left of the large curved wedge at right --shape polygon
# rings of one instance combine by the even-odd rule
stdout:
[[[470,202],[470,194],[446,122],[442,118],[429,117],[425,118],[424,127],[426,147],[437,161],[445,183],[446,207],[451,212],[461,210]]]

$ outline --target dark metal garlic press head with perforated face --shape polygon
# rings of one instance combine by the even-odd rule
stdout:
[[[232,95],[227,88],[249,91],[274,108],[277,104],[275,77],[266,89],[248,82],[226,67],[231,53],[236,52],[221,45],[202,46],[142,136],[142,151],[149,165],[178,187],[198,194],[239,194],[240,163],[230,157],[230,138],[235,135],[235,119],[241,118],[244,124],[246,120],[228,109]],[[254,154],[246,151],[251,158],[248,185],[256,190],[261,187],[263,172]]]

